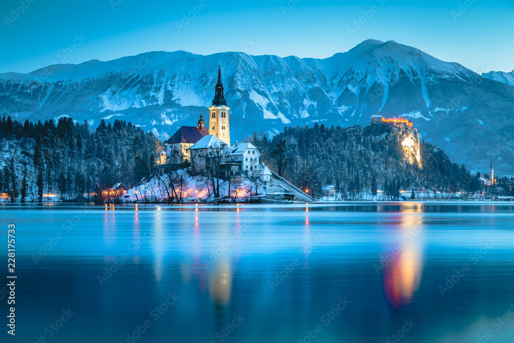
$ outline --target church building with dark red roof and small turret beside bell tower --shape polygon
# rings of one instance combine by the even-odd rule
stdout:
[[[205,127],[204,116],[200,114],[196,127],[182,126],[164,142],[168,147],[167,159],[170,163],[189,163],[191,161],[189,148],[208,134],[209,129]]]

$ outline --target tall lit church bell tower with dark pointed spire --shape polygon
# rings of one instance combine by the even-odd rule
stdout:
[[[230,146],[230,107],[227,106],[223,92],[222,69],[219,66],[214,100],[209,107],[209,134],[218,137]]]

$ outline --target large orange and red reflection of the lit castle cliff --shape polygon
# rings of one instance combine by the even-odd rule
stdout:
[[[384,292],[394,308],[412,301],[424,266],[423,205],[402,207],[398,213],[400,223],[394,225],[397,238],[381,259]]]

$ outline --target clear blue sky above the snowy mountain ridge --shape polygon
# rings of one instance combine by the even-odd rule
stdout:
[[[514,69],[514,0],[3,0],[0,15],[0,73],[155,50],[326,58],[366,39]]]

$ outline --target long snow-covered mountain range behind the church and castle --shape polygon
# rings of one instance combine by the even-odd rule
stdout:
[[[367,124],[380,112],[412,119],[423,139],[471,169],[486,170],[492,157],[495,170],[514,174],[514,87],[394,41],[322,60],[157,51],[0,74],[0,115],[125,119],[166,138],[211,104],[218,65],[232,140],[315,121]]]

